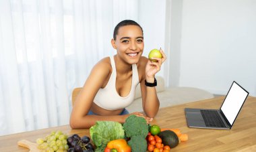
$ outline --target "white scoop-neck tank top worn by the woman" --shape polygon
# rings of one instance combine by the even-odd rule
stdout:
[[[110,56],[112,73],[108,80],[108,84],[104,88],[98,90],[94,103],[106,110],[117,110],[129,106],[135,97],[135,88],[139,84],[139,74],[136,64],[132,65],[133,75],[131,80],[131,90],[127,96],[119,96],[116,89],[116,66],[113,56]]]

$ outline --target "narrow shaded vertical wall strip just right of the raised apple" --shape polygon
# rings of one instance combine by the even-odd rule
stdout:
[[[181,73],[181,28],[183,1],[166,1],[166,50],[168,50],[168,86],[179,86]]]

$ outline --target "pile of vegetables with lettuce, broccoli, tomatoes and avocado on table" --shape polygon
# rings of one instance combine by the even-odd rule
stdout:
[[[145,119],[135,115],[127,117],[123,125],[114,121],[97,121],[90,128],[90,136],[96,152],[144,152],[154,149],[165,152],[188,140],[187,134],[182,134],[179,129],[150,126]]]

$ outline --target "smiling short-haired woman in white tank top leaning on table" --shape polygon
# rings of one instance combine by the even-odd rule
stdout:
[[[159,100],[156,94],[155,74],[166,56],[151,62],[142,55],[143,30],[132,20],[121,21],[114,30],[111,44],[117,54],[100,60],[88,76],[77,96],[70,117],[73,129],[90,128],[96,121],[125,123],[129,115],[143,117],[149,123],[156,116]],[[125,107],[133,102],[135,87],[141,85],[143,111],[129,112]],[[146,86],[147,85],[147,86]]]

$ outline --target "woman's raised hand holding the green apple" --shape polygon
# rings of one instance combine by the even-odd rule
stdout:
[[[160,53],[162,54],[162,58],[152,58],[154,60],[157,60],[158,62],[152,62],[148,60],[148,63],[146,65],[146,78],[154,78],[155,74],[160,71],[162,63],[166,60],[166,56],[161,48]]]

